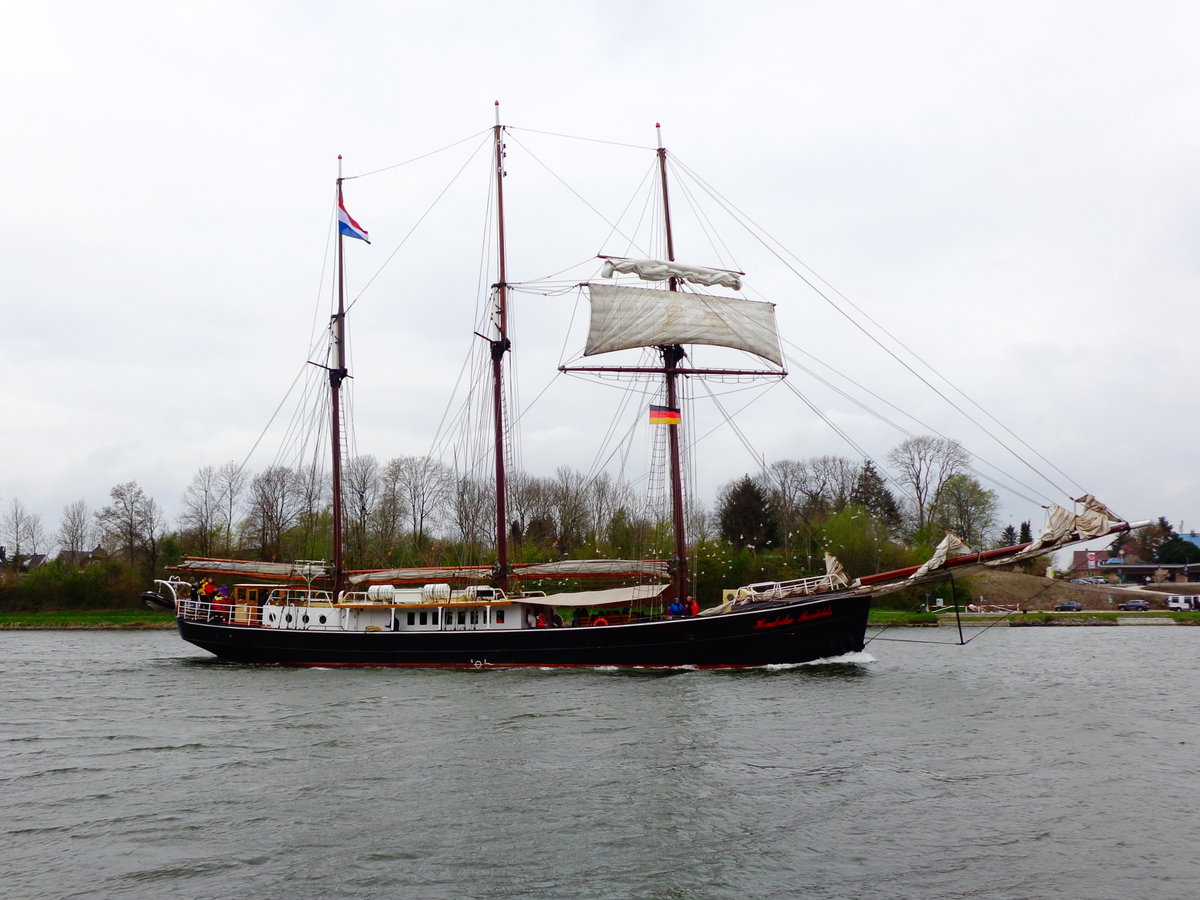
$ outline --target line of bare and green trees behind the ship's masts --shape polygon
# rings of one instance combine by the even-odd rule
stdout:
[[[690,504],[694,569],[722,583],[742,575],[799,577],[823,571],[828,551],[863,574],[919,562],[946,529],[977,547],[1007,541],[1014,530],[996,530],[997,497],[971,475],[958,442],[910,438],[887,462],[881,472],[871,461],[839,456],[781,460],[734,479],[712,510]],[[492,562],[490,481],[430,457],[380,462],[371,455],[352,457],[342,481],[347,568]],[[508,497],[512,562],[671,552],[665,516],[608,474],[589,478],[566,466],[546,478],[518,472]],[[185,554],[272,562],[331,554],[329,479],[316,466],[257,474],[233,462],[205,466],[184,490],[181,508],[169,523],[128,481],[114,486],[100,510],[83,500],[66,506],[50,535],[13,499],[0,516],[5,562],[19,569],[52,540],[68,562],[98,547],[143,577]]]

